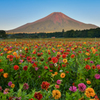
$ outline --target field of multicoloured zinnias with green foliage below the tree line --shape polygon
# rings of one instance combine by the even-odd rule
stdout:
[[[0,100],[99,98],[99,39],[0,41]]]

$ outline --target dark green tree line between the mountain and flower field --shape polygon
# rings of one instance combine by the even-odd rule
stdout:
[[[0,38],[100,38],[100,28],[86,30],[69,30],[64,32],[54,33],[14,33],[6,34],[5,31],[0,31]]]

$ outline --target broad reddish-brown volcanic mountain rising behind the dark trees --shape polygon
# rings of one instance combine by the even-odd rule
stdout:
[[[9,30],[8,32],[61,32],[62,29],[67,31],[71,29],[83,30],[90,28],[97,28],[97,26],[79,22],[61,12],[54,12],[42,19],[39,19],[32,23],[27,23],[16,29]]]

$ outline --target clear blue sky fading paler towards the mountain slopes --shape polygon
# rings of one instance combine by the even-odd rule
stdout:
[[[100,0],[0,0],[0,30],[11,30],[52,12],[100,27]]]

